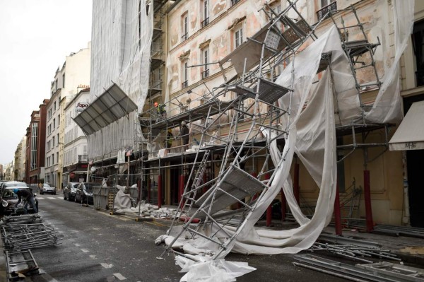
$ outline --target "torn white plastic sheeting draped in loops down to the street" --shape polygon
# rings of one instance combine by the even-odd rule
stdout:
[[[408,23],[401,23],[401,20]],[[367,122],[391,122],[399,118],[399,76],[396,76],[399,73],[396,69],[399,66],[399,57],[405,48],[407,35],[411,32],[412,20],[413,1],[394,1],[396,58],[394,64],[386,71],[383,86],[374,107],[367,113]],[[327,69],[317,86],[312,87],[321,55],[324,53],[331,53],[331,74]],[[362,119],[363,112],[349,59],[341,48],[335,26],[300,52],[293,64],[289,65],[276,81],[281,86],[290,86],[293,71],[295,81],[293,97],[290,100],[287,96],[279,101],[283,108],[291,108],[290,119],[282,122],[283,125],[289,124],[289,133],[283,152],[278,152],[275,143],[270,146],[271,157],[276,167],[275,177],[269,190],[259,199],[257,208],[247,216],[247,221],[243,223],[242,228],[235,230],[225,227],[228,233],[237,232],[238,235],[232,245],[226,246],[220,258],[225,257],[230,251],[247,254],[297,253],[310,247],[322,229],[331,221],[336,193],[335,126],[336,123],[356,122]],[[336,117],[334,116],[335,104],[338,110]],[[273,132],[264,131],[264,134],[273,134]],[[302,214],[293,195],[289,170],[294,153],[302,160],[320,188],[312,219]],[[281,187],[284,189],[290,211],[293,211],[300,227],[293,230],[256,230],[254,224],[275,199]],[[218,232],[214,237],[216,240],[228,237],[222,231],[204,230],[206,235],[216,232]],[[166,238],[169,239],[167,236],[163,239],[166,240]],[[184,250],[189,249],[187,244],[197,246],[196,249],[202,249],[199,245],[202,245],[204,241],[204,238],[184,240],[184,236],[180,236],[176,244]],[[205,244],[204,249],[214,252],[218,249],[218,245]]]

